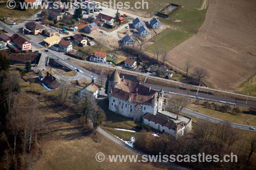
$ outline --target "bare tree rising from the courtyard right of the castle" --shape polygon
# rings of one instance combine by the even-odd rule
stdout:
[[[169,107],[170,111],[175,113],[176,119],[179,118],[179,114],[183,108],[185,108],[189,104],[189,99],[185,96],[173,96],[170,99]]]

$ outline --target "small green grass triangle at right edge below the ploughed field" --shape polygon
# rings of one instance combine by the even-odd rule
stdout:
[[[251,77],[247,82],[241,85],[236,93],[245,94],[249,93],[250,96],[256,96],[256,75]]]

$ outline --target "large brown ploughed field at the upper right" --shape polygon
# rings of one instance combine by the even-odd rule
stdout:
[[[255,0],[209,0],[198,34],[169,51],[169,62],[209,71],[214,88],[232,91],[256,71]]]

